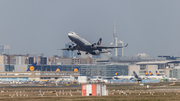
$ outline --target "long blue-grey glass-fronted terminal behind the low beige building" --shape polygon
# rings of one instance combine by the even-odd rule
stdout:
[[[27,72],[27,69],[31,65],[0,65],[1,72]],[[61,71],[73,71],[74,68],[79,68],[81,76],[115,76],[115,72],[118,75],[128,75],[128,65],[121,64],[106,64],[106,65],[95,65],[95,64],[82,64],[82,65],[36,65],[34,71],[56,71],[58,67],[61,67]]]

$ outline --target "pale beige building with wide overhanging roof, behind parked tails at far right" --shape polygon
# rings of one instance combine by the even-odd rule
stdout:
[[[137,62],[135,65],[129,66],[129,75],[133,75],[133,71],[136,71],[138,75],[144,76],[145,71],[151,72],[156,75],[156,71],[165,78],[180,79],[178,72],[180,68],[180,60],[166,60],[166,61],[146,61]],[[172,74],[173,71],[173,74]]]

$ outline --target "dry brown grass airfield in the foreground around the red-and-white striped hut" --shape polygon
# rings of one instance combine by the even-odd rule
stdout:
[[[81,87],[0,87],[3,101],[180,101],[180,83],[107,85],[108,96],[81,96]],[[71,96],[72,95],[72,96]]]

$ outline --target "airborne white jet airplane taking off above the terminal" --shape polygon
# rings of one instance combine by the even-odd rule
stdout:
[[[80,51],[85,51],[86,54],[90,53],[92,55],[100,55],[101,53],[110,52],[107,51],[106,49],[123,48],[128,46],[128,44],[125,46],[101,46],[102,38],[100,38],[97,43],[91,44],[84,38],[78,36],[75,32],[68,33],[68,37],[73,42],[73,44],[69,45],[68,48],[64,48],[61,50],[67,50],[67,51],[78,50],[77,55],[81,55]],[[74,43],[76,44],[75,46],[73,46]],[[105,51],[103,51],[103,49],[105,49]]]

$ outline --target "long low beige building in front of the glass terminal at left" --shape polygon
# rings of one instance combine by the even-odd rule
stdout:
[[[50,71],[33,71],[33,72],[1,72],[1,81],[47,81],[47,80],[57,80],[61,77],[72,76],[77,78],[79,76],[78,72],[50,72]]]

